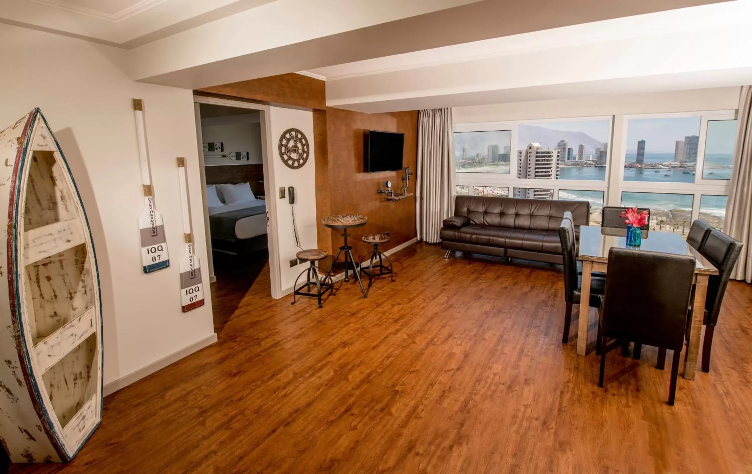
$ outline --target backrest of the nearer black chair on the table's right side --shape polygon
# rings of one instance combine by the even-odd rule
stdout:
[[[705,299],[708,324],[716,325],[723,295],[726,294],[726,286],[729,285],[731,272],[741,253],[741,242],[717,229],[711,229],[700,253],[718,269],[717,275],[711,275],[708,278],[708,297]]]

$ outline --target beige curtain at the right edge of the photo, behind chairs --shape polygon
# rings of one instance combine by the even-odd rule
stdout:
[[[726,204],[723,232],[744,244],[733,279],[752,283],[752,86],[741,88],[734,146],[731,192]]]

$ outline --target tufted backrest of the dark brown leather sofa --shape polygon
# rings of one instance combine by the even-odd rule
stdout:
[[[454,215],[466,216],[474,225],[496,225],[537,231],[556,231],[566,211],[572,213],[574,225],[587,225],[590,222],[590,203],[587,201],[544,201],[487,196],[457,196],[454,201]]]

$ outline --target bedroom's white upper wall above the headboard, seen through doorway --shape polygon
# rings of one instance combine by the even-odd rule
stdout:
[[[202,125],[201,132],[204,143],[224,143],[224,154],[229,152],[248,152],[247,162],[237,162],[204,152],[204,164],[206,166],[261,164],[261,124],[259,122]]]

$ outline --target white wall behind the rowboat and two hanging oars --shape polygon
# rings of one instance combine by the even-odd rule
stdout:
[[[216,338],[206,304],[180,312],[183,254],[176,157],[187,162],[196,252],[206,258],[193,93],[135,83],[123,50],[0,24],[0,128],[41,107],[65,153],[89,216],[102,284],[105,385]],[[156,207],[171,267],[141,273],[143,207],[132,98],[144,99]],[[313,167],[311,167],[313,168]]]

